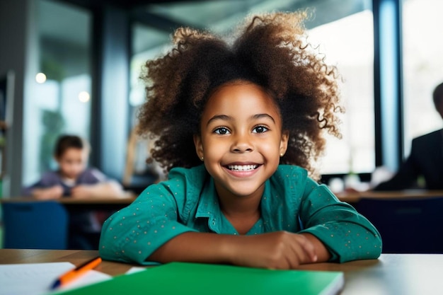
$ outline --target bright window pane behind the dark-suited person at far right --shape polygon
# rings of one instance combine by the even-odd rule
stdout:
[[[405,155],[414,137],[442,128],[432,91],[443,82],[443,1],[403,0]]]

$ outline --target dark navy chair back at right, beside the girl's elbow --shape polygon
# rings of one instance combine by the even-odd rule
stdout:
[[[382,253],[443,253],[443,197],[363,197],[355,209],[379,230]]]

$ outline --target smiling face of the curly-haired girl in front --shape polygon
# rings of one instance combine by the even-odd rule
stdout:
[[[225,84],[209,98],[200,125],[195,149],[219,197],[261,197],[288,141],[269,94],[253,83]]]

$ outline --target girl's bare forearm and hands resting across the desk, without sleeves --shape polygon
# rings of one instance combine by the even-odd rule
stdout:
[[[183,233],[158,248],[149,260],[229,263],[287,270],[304,263],[325,262],[329,258],[328,250],[315,236],[276,231],[254,236]]]

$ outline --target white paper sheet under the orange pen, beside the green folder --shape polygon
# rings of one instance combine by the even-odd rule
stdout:
[[[52,294],[52,284],[64,272],[74,268],[71,262],[29,263],[0,265],[0,295],[42,295]],[[73,289],[110,279],[111,276],[90,270],[64,287]]]

